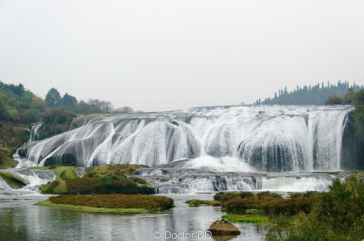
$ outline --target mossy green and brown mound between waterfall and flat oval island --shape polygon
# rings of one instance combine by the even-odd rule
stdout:
[[[57,179],[40,187],[43,194],[153,194],[152,185],[142,178],[134,177],[138,168],[146,165],[116,164],[86,167],[79,177],[76,167],[31,167],[31,169],[54,170]]]

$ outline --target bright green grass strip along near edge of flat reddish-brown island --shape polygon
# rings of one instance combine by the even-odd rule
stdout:
[[[142,212],[148,212],[148,209],[144,209],[144,208],[94,208],[94,207],[86,207],[86,206],[54,204],[49,200],[44,200],[44,201],[42,201],[40,203],[36,203],[34,205],[58,207],[58,208],[67,208],[67,209],[72,209],[72,210],[76,210],[76,211],[98,212],[98,213],[142,213]]]

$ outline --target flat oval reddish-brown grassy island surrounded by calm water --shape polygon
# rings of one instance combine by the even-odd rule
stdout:
[[[142,194],[63,195],[51,197],[35,205],[109,213],[160,211],[174,207],[171,198]]]

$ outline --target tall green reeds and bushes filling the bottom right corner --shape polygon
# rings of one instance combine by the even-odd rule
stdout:
[[[309,213],[273,221],[267,241],[361,240],[364,237],[364,184],[355,175],[336,178],[330,191],[316,196]]]

